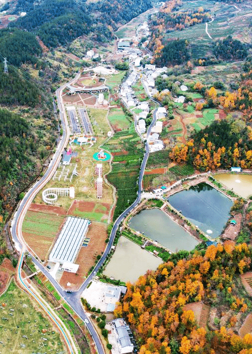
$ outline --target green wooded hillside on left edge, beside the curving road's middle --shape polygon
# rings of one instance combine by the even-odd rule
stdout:
[[[0,109],[0,204],[1,221],[20,192],[42,168],[42,160],[55,144],[57,121],[44,114],[33,118]]]

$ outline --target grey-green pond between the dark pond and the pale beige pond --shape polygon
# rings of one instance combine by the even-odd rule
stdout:
[[[129,226],[172,252],[190,251],[198,244],[184,228],[157,208],[145,209],[134,215],[129,221]]]

